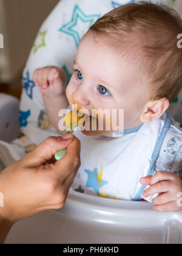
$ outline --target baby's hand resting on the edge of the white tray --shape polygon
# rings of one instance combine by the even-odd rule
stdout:
[[[143,192],[144,197],[160,194],[152,200],[153,210],[156,212],[181,212],[182,210],[182,182],[176,174],[159,171],[154,176],[140,179],[143,185],[150,185]]]

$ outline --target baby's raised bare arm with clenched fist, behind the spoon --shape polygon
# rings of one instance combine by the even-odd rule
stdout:
[[[53,127],[62,135],[58,128],[58,113],[69,106],[66,97],[66,73],[55,66],[39,68],[33,73],[33,82],[42,93],[47,115]]]

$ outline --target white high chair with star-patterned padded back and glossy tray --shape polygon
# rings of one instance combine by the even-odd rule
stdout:
[[[34,69],[60,66],[69,79],[79,40],[89,26],[99,16],[127,2],[132,1],[59,2],[42,25],[25,67],[21,111],[44,109],[39,91],[32,83]],[[25,135],[31,137],[39,129],[38,116],[30,116],[27,126],[21,127]],[[30,128],[34,129],[31,134]],[[16,223],[6,243],[182,243],[182,215],[154,212],[147,202],[114,201],[70,191],[61,210],[50,210]]]

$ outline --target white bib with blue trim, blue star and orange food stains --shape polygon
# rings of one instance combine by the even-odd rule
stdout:
[[[182,133],[172,127],[168,112],[149,124],[125,130],[119,138],[89,137],[76,129],[74,135],[81,141],[81,167],[72,189],[110,199],[142,199],[146,187],[141,185],[140,178],[165,171],[159,168],[164,168],[162,166],[169,162],[169,154],[172,155],[172,143],[168,141],[176,133],[171,129],[179,133],[181,140],[178,139],[178,143],[180,141],[182,146]],[[167,144],[170,144],[170,149],[167,149]],[[182,156],[178,162],[181,160]],[[152,198],[147,198],[147,201],[151,202]]]

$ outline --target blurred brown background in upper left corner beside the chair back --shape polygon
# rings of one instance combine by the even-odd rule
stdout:
[[[13,83],[32,48],[42,22],[58,0],[0,0],[0,34],[4,49],[0,49],[0,82]]]

